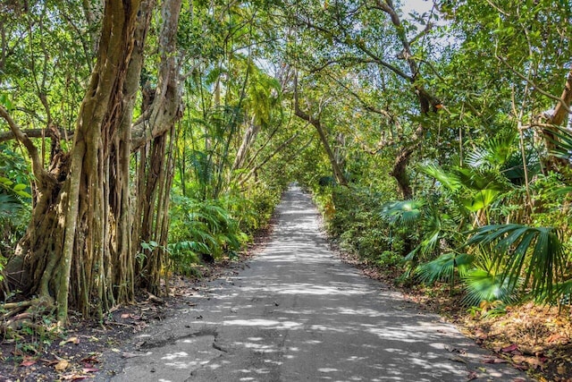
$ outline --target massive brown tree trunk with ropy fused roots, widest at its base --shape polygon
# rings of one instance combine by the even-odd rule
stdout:
[[[27,292],[55,299],[64,325],[68,301],[88,315],[114,303],[109,253],[110,147],[123,116],[122,89],[133,48],[139,1],[105,4],[97,64],[70,152],[70,171],[32,213],[25,266]],[[117,171],[117,169],[115,169]],[[95,311],[94,311],[95,310]]]

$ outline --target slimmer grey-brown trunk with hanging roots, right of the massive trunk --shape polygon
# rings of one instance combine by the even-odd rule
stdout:
[[[140,252],[141,242],[157,242],[158,247],[137,265],[138,285],[154,294],[161,294],[162,271],[166,265],[169,228],[170,191],[173,176],[173,145],[177,134],[175,124],[182,117],[179,67],[174,54],[181,0],[165,2],[162,7],[164,24],[159,41],[161,66],[152,104],[144,114],[149,120],[133,128],[132,149],[139,151],[137,202],[132,237],[133,256]],[[148,138],[152,137],[152,140]],[[165,279],[166,285],[166,279]]]

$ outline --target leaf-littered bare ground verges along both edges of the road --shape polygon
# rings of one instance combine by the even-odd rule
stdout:
[[[110,312],[103,322],[86,323],[71,316],[71,325],[64,333],[46,329],[22,328],[9,338],[4,335],[0,344],[0,382],[82,380],[95,378],[105,370],[102,354],[111,350],[118,357],[132,354],[122,349],[127,339],[143,328],[163,320],[188,304],[184,297],[198,290],[206,280],[236,274],[248,259],[264,247],[269,232],[262,233],[240,261],[222,262],[203,267],[202,280],[173,277],[171,295],[158,298],[139,296],[138,302]],[[363,261],[347,254],[342,259],[369,277],[392,285],[394,275],[367,266]],[[572,323],[568,314],[559,314],[556,308],[527,304],[510,307],[507,314],[481,318],[482,313],[470,314],[450,298],[448,285],[433,288],[402,288],[404,293],[428,311],[437,312],[455,323],[475,343],[491,349],[498,355],[495,362],[508,362],[517,369],[526,369],[539,381],[572,382]],[[46,325],[49,327],[49,325]]]

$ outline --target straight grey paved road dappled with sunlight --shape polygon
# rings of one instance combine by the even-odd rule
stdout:
[[[292,187],[271,242],[138,335],[112,381],[523,381],[458,330],[341,263]]]

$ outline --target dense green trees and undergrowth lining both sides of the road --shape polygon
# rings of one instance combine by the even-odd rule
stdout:
[[[572,6],[418,5],[1,4],[4,321],[166,293],[292,181],[402,282],[569,302]]]

